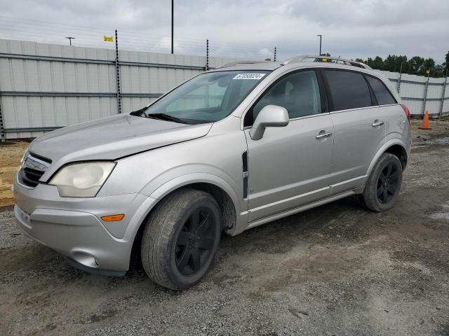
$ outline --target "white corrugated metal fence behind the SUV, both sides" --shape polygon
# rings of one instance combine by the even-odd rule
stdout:
[[[140,109],[197,73],[237,58],[170,55],[0,39],[1,139]],[[414,116],[449,114],[447,78],[382,71]]]

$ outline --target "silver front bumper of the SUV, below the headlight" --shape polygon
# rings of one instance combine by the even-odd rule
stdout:
[[[85,270],[112,273],[128,270],[135,234],[156,201],[138,193],[60,197],[55,186],[26,188],[17,179],[13,190],[16,222],[25,234],[83,265]],[[119,222],[101,220],[111,214],[125,217]]]

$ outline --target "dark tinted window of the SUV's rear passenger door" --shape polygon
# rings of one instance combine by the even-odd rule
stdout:
[[[361,73],[325,70],[333,111],[372,106],[370,88]]]

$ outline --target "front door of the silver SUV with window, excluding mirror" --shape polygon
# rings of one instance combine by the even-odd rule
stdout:
[[[330,195],[334,131],[321,87],[314,70],[288,73],[246,114],[250,126],[264,106],[274,104],[290,118],[286,127],[268,127],[260,140],[245,130],[250,222]]]

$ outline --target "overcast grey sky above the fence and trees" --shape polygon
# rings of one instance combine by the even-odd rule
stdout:
[[[170,51],[170,0],[0,0],[0,38]],[[449,50],[449,0],[175,0],[175,52],[220,56],[317,54],[433,57]]]

